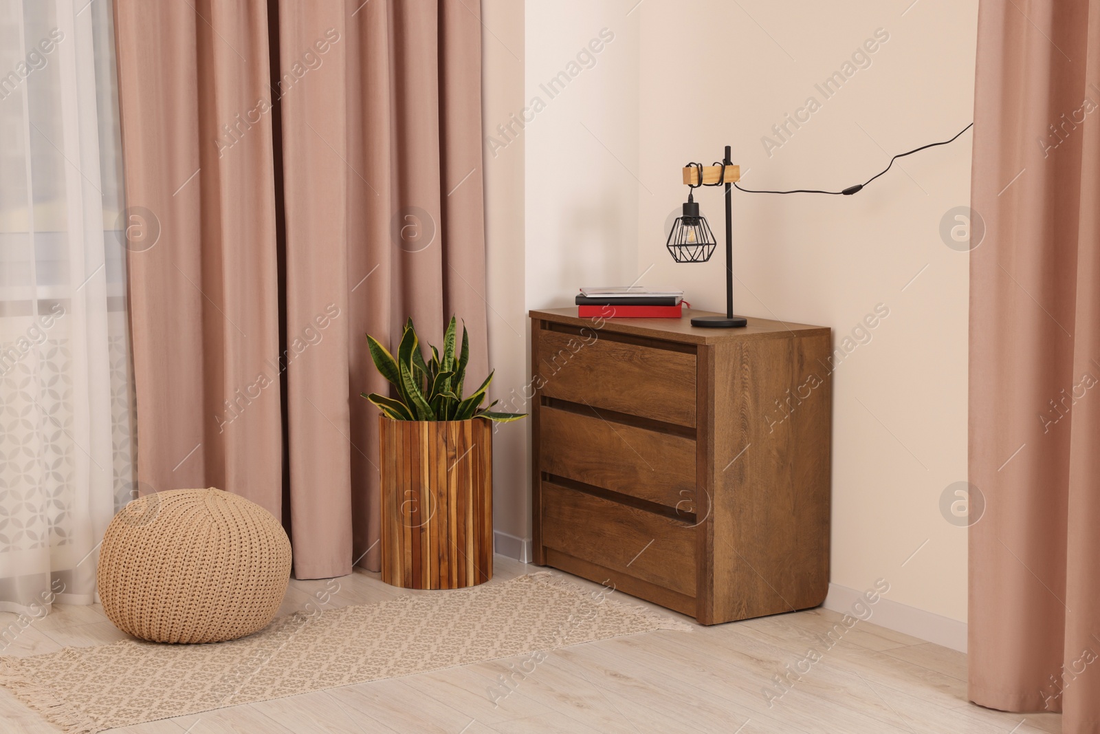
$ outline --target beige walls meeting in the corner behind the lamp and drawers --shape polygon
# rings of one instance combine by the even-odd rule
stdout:
[[[525,105],[602,28],[615,33],[520,135],[526,263],[513,287],[528,308],[645,273],[721,309],[721,254],[676,265],[663,247],[686,195],[680,166],[730,144],[746,187],[838,189],[971,120],[976,0],[525,8]],[[826,99],[815,85],[848,70],[879,29],[875,52]],[[820,109],[777,138],[772,125],[811,96]],[[966,618],[966,530],[939,499],[966,479],[968,266],[939,226],[969,200],[969,161],[967,133],[854,197],[734,193],[738,313],[826,325],[838,348],[857,344],[834,373],[833,582],[883,577],[892,601],[954,620]],[[722,238],[721,194],[697,198]],[[843,342],[876,307],[889,316]]]

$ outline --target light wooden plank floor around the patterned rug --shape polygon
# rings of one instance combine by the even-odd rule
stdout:
[[[496,557],[497,583],[531,572]],[[587,584],[578,579],[579,583]],[[333,592],[333,590],[336,590]],[[393,599],[406,592],[376,573],[332,581],[292,581],[280,613]],[[446,593],[446,592],[442,592]],[[331,594],[331,595],[327,595]],[[612,598],[615,595],[613,594]],[[637,600],[627,598],[637,603]],[[322,603],[324,602],[324,603]],[[668,612],[674,615],[672,612]],[[682,617],[686,618],[686,617]],[[769,706],[772,676],[823,650],[817,635],[838,622],[826,610],[782,614],[691,633],[654,632],[551,651],[494,708],[488,690],[508,658],[407,678],[380,680],[288,699],[151,722],[112,734],[353,734],[436,732],[649,733],[725,732],[1024,734],[1060,732],[1056,714],[1010,714],[966,700],[966,656],[860,622]],[[0,627],[14,615],[0,614]],[[55,606],[0,655],[35,655],[66,645],[123,638],[98,607]],[[56,734],[0,690],[0,732]]]

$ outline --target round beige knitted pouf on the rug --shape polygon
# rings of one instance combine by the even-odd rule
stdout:
[[[170,490],[128,504],[107,528],[97,581],[103,613],[156,643],[251,635],[290,580],[290,541],[254,502],[217,489]]]

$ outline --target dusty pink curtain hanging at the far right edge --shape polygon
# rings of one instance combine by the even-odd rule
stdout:
[[[969,695],[1100,732],[1100,2],[979,8]]]

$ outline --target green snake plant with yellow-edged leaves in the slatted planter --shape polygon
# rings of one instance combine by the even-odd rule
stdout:
[[[397,398],[386,397],[377,393],[362,393],[362,396],[378,406],[382,413],[394,420],[469,420],[470,418],[488,418],[499,423],[518,420],[524,413],[498,413],[492,408],[498,401],[482,407],[485,391],[493,381],[490,372],[485,382],[470,396],[462,395],[462,383],[466,376],[466,361],[470,359],[470,339],[466,327],[462,327],[462,346],[458,357],[454,354],[455,319],[443,333],[443,353],[428,344],[431,349],[431,360],[425,362],[420,352],[420,341],[410,318],[405,324],[402,341],[394,358],[382,343],[366,335],[366,343],[371,349],[371,359],[383,377],[393,383]]]

